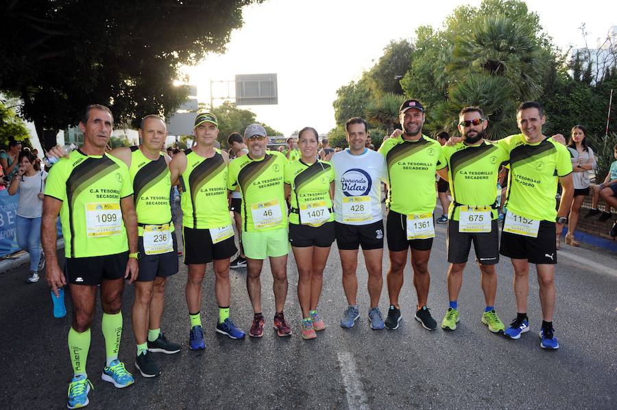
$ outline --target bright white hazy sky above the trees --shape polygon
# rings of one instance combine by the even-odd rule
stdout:
[[[442,27],[459,5],[481,1],[266,0],[243,10],[244,25],[232,31],[227,51],[185,68],[197,99],[210,103],[210,80],[233,81],[237,74],[276,73],[278,105],[242,105],[257,120],[285,136],[310,126],[319,133],[335,127],[336,91],[359,79],[383,55],[391,40],[413,40],[420,25]],[[583,47],[585,23],[590,47],[617,25],[617,1],[526,1],[554,43],[567,51]],[[401,73],[401,75],[404,73]],[[233,94],[233,86],[230,88]],[[215,83],[215,97],[228,86]],[[215,99],[215,105],[222,103]]]

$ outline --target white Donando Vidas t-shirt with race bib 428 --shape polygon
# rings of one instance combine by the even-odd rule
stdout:
[[[388,182],[385,157],[370,149],[361,155],[345,149],[330,162],[335,169],[335,220],[346,225],[382,220],[381,183]]]

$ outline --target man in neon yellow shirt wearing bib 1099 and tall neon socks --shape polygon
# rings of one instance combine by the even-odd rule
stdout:
[[[51,290],[68,278],[73,301],[69,352],[73,379],[67,407],[88,405],[92,383],[86,374],[97,285],[101,289],[106,366],[102,379],[122,388],[132,385],[132,374],[119,361],[122,335],[124,279],[137,279],[137,221],[128,167],[106,155],[113,117],[104,105],[88,105],[80,122],[84,145],[62,158],[49,171],[43,202],[42,243],[47,256],[46,275]],[[64,233],[64,272],[56,257],[56,220]]]

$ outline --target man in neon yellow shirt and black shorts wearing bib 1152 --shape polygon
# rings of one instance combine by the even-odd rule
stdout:
[[[500,140],[509,151],[509,182],[505,206],[508,209],[501,235],[501,255],[512,261],[516,319],[505,329],[505,335],[518,339],[529,331],[527,295],[529,294],[529,264],[535,264],[542,327],[540,346],[559,348],[553,334],[555,310],[555,235],[561,234],[572,203],[572,162],[565,146],[546,138],[542,125],[546,121],[540,103],[522,103],[516,111],[521,133]],[[561,202],[555,211],[557,182],[561,183]]]

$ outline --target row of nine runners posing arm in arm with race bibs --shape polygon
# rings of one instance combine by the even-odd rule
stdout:
[[[529,264],[535,264],[542,304],[540,346],[558,348],[553,330],[555,235],[563,228],[568,209],[560,205],[559,211],[555,210],[555,192],[557,183],[561,183],[561,203],[571,202],[572,164],[568,150],[542,134],[544,112],[535,102],[518,107],[516,119],[521,133],[495,143],[483,140],[488,123],[479,107],[461,110],[462,137],[451,138],[444,146],[423,135],[424,118],[420,101],[405,101],[400,107],[402,131],[387,138],[378,151],[365,146],[365,120],[350,118],[346,123],[349,148],[334,155],[322,152],[321,157],[317,131],[306,127],[298,135],[299,157],[293,161],[269,151],[265,129],[252,124],[243,136],[230,136],[228,142],[237,155],[230,162],[228,153],[215,148],[218,121],[209,112],[195,118],[193,147],[170,159],[161,152],[167,131],[160,116],[143,118],[139,146],[107,154],[112,113],[103,105],[88,106],[80,122],[84,144],[51,168],[43,210],[47,282],[53,292],[68,283],[73,301],[68,335],[73,364],[69,409],[88,405],[92,384],[86,374],[86,359],[97,286],[104,311],[104,381],[119,388],[134,383],[132,374],[118,359],[125,279],[135,287],[132,325],[136,370],[145,377],[157,376],[160,368],[152,353],[181,350],[180,344],[160,331],[166,280],[178,272],[178,242],[169,206],[169,192],[176,183],[183,192],[186,303],[189,348],[193,350],[205,348],[200,311],[202,281],[210,263],[219,307],[215,329],[232,339],[245,337],[230,318],[230,259],[238,251],[234,225],[240,233],[241,248],[234,266],[246,265],[247,292],[254,311],[251,337],[262,337],[266,322],[260,279],[265,259],[269,259],[274,278],[271,324],[279,336],[292,333],[284,315],[290,246],[298,265],[301,335],[313,339],[317,331],[326,328],[318,305],[324,268],[335,240],[348,301],[340,320],[342,327],[354,326],[360,317],[356,269],[361,247],[368,272],[367,316],[371,328],[398,328],[398,296],[411,254],[418,298],[415,319],[424,329],[436,329],[437,322],[428,309],[428,261],[435,237],[435,173],[450,182],[452,193],[447,211],[450,305],[441,327],[453,331],[459,322],[457,299],[473,242],[485,295],[481,321],[489,331],[503,332],[513,339],[529,331],[528,275]],[[52,152],[62,155],[58,149]],[[508,212],[499,248],[496,183],[503,165],[509,166],[510,176]],[[382,183],[389,188],[385,229]],[[235,220],[230,216],[229,203],[239,214]],[[64,233],[64,270],[56,257],[58,215]],[[390,262],[385,320],[379,309],[384,235]],[[500,254],[510,257],[514,268],[517,315],[507,327],[494,308],[495,265]]]

